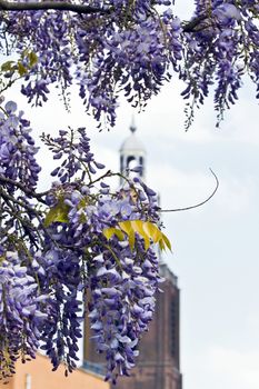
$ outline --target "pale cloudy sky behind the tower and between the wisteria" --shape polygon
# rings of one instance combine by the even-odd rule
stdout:
[[[217,194],[203,207],[163,218],[173,246],[173,255],[166,260],[181,289],[183,388],[258,389],[259,110],[255,88],[242,89],[220,129],[215,127],[216,113],[208,101],[188,132],[180,90],[177,81],[166,86],[135,118],[148,153],[148,183],[161,193],[165,209],[209,196],[215,188],[209,168],[220,181]],[[20,104],[26,108],[24,101]],[[77,97],[70,116],[53,97],[44,108],[30,110],[29,117],[38,133],[86,126],[99,160],[118,169],[118,150],[129,136],[132,110],[122,103],[117,127],[109,133],[92,129]],[[47,174],[51,162],[46,151],[40,158]]]

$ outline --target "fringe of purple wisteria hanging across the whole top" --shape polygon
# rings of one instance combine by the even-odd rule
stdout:
[[[69,103],[67,91],[76,82],[99,126],[102,119],[113,126],[120,92],[141,109],[176,72],[187,84],[182,96],[188,100],[189,127],[195,107],[203,103],[211,86],[218,121],[236,102],[245,73],[256,83],[258,97],[257,0],[196,0],[188,22],[176,16],[170,0],[91,4],[94,11],[82,13],[1,13],[2,51],[18,52],[26,69],[24,47],[38,57],[23,74],[21,91],[29,102],[41,106],[54,83]],[[7,36],[11,44],[6,44]]]

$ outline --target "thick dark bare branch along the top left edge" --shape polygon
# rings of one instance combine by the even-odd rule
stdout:
[[[59,11],[71,11],[82,14],[89,13],[107,13],[110,10],[103,8],[97,8],[86,4],[73,4],[66,1],[7,1],[0,0],[0,10],[3,11],[39,11],[39,10],[59,10]]]

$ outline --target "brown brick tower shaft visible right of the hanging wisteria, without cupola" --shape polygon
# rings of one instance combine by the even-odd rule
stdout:
[[[181,389],[179,355],[179,289],[176,276],[161,265],[163,292],[157,295],[157,310],[140,342],[137,366],[130,377],[119,378],[112,389]]]

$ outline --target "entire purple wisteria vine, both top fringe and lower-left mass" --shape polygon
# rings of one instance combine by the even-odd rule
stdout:
[[[0,0],[0,96],[17,81],[42,106],[50,87],[74,83],[99,127],[116,123],[119,94],[138,109],[173,73],[183,80],[187,128],[215,88],[218,123],[245,73],[259,98],[258,0],[196,0],[181,21],[170,0]],[[162,232],[157,196],[139,178],[112,190],[84,128],[42,134],[57,163],[38,192],[41,167],[30,122],[0,98],[0,378],[39,347],[66,375],[78,360],[89,316],[106,379],[128,375],[161,281],[155,245]],[[79,299],[80,293],[84,297]]]

